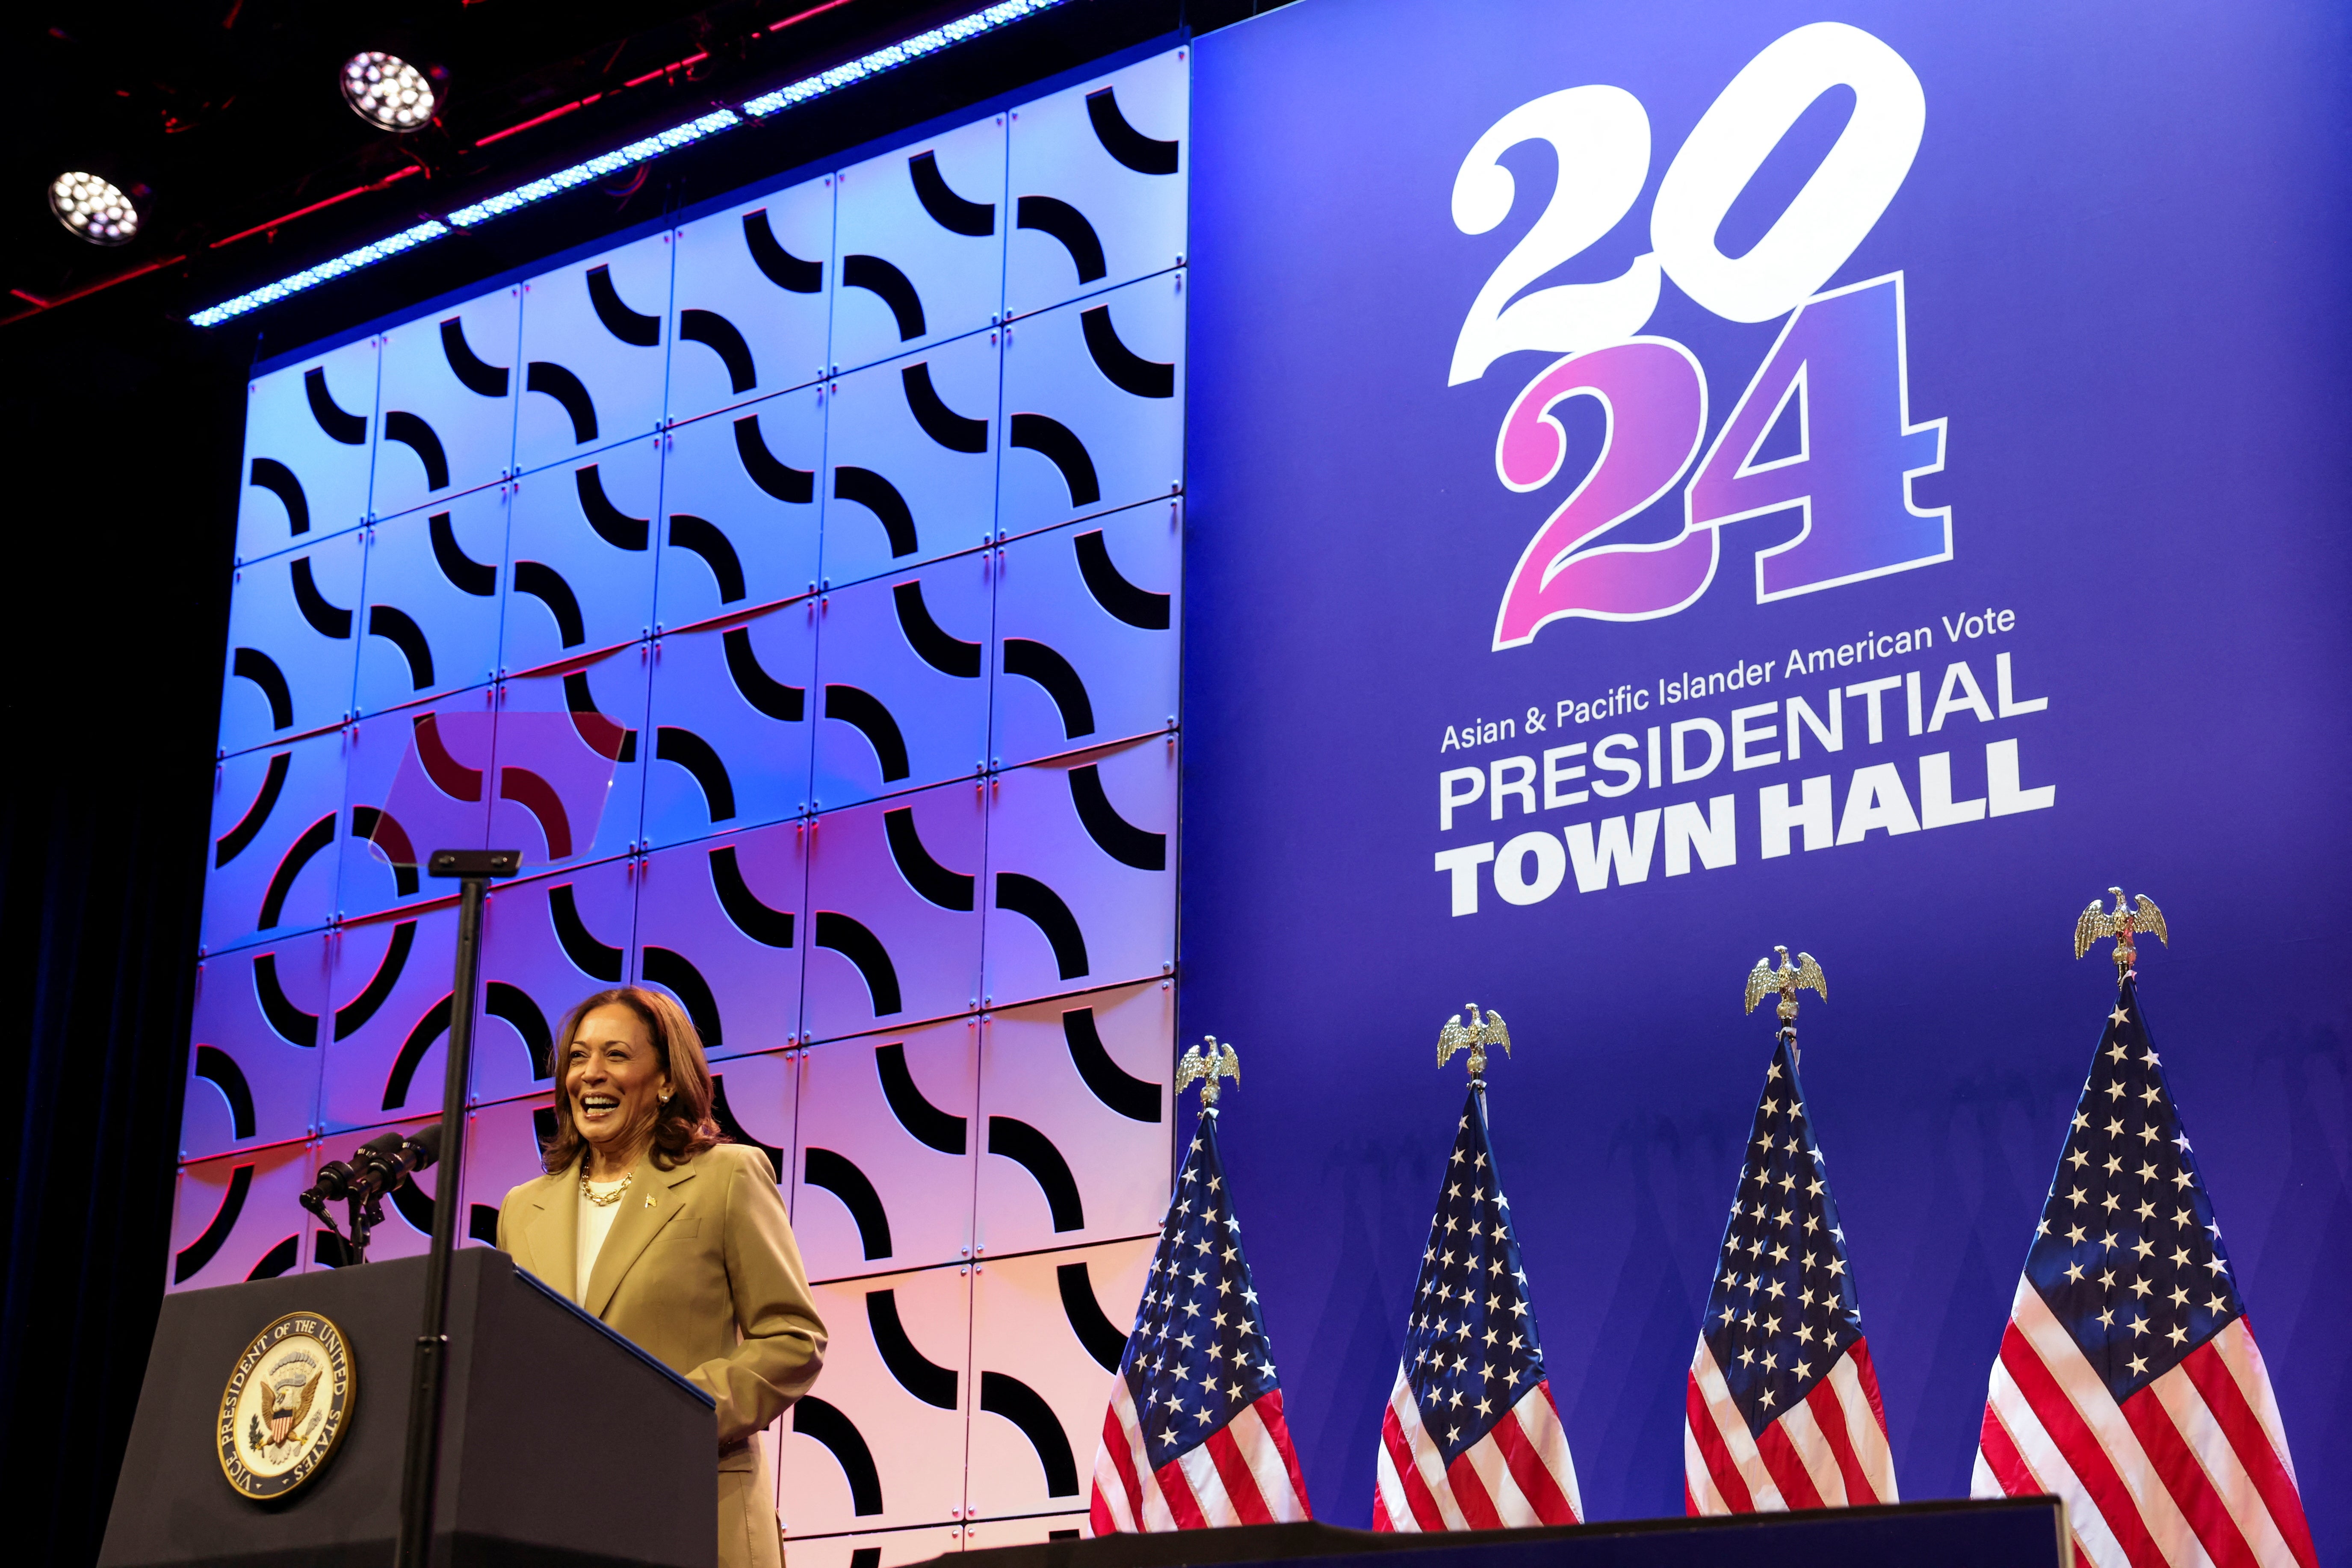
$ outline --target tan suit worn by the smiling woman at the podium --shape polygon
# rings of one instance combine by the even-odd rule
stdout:
[[[499,1251],[572,1295],[579,1166],[506,1194]],[[579,1300],[717,1401],[720,1563],[776,1563],[750,1436],[816,1382],[826,1326],[767,1154],[722,1143],[675,1171],[642,1161]]]

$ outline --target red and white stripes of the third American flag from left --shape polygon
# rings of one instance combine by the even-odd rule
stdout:
[[[1870,1340],[1856,1340],[1780,1420],[1762,1434],[1731,1403],[1708,1340],[1684,1385],[1682,1509],[1769,1514],[1783,1509],[1898,1502],[1896,1458]]]

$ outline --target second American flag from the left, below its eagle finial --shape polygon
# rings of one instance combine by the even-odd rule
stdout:
[[[1486,1105],[1472,1086],[1381,1420],[1371,1528],[1498,1530],[1581,1516]]]

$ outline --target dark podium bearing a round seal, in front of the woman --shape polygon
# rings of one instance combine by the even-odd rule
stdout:
[[[101,1568],[390,1563],[423,1288],[426,1260],[400,1258],[165,1298]],[[348,1427],[308,1486],[252,1502],[230,1488],[214,1432],[240,1354],[287,1312],[341,1328]],[[506,1253],[461,1248],[435,1568],[710,1568],[715,1556],[710,1396]]]

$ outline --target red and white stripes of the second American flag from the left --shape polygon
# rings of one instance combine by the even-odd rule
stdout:
[[[1374,1530],[1505,1530],[1531,1523],[1583,1523],[1576,1460],[1545,1378],[1503,1420],[1444,1465],[1421,1425],[1421,1406],[1397,1368],[1381,1420],[1381,1460],[1371,1495]]]

